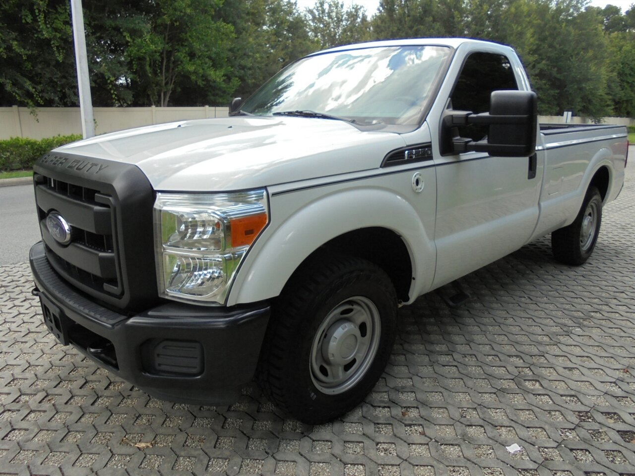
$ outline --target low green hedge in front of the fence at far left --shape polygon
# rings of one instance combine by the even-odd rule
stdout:
[[[0,171],[30,169],[34,162],[49,150],[81,138],[79,134],[71,134],[40,140],[22,137],[0,140]]]

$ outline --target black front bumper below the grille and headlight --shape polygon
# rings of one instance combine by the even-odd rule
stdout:
[[[31,248],[29,261],[51,333],[150,395],[222,404],[253,378],[269,321],[267,303],[166,303],[129,316],[70,287],[51,267],[42,242]]]

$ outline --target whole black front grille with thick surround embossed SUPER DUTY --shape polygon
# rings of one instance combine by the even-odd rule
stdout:
[[[56,151],[34,172],[44,251],[60,279],[110,309],[156,304],[154,190],[141,169]],[[57,239],[46,226],[53,210],[71,227],[69,244],[60,218],[51,220]]]

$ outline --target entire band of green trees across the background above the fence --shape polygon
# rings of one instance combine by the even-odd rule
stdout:
[[[321,48],[373,39],[474,37],[518,51],[542,114],[635,116],[635,4],[588,0],[84,1],[95,105],[203,105],[245,98]],[[75,105],[67,0],[0,4],[0,104]]]

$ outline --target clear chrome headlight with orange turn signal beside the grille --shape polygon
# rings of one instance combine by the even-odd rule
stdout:
[[[154,239],[159,295],[223,303],[236,268],[267,223],[263,188],[232,194],[158,193]]]

